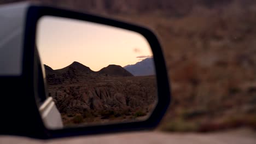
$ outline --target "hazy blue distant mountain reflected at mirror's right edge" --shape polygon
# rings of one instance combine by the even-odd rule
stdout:
[[[136,64],[126,65],[124,67],[134,76],[155,75],[154,59],[146,58]]]

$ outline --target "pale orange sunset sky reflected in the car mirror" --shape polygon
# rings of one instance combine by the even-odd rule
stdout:
[[[109,64],[124,67],[153,55],[139,33],[53,16],[39,20],[36,43],[42,63],[53,69],[77,61],[98,71]]]

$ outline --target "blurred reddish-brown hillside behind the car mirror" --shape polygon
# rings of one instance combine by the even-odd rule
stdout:
[[[153,29],[173,96],[160,129],[256,128],[256,1],[41,2]]]

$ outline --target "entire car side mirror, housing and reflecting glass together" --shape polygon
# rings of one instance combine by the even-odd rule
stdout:
[[[147,28],[30,3],[0,7],[0,134],[37,139],[155,128],[170,103]]]

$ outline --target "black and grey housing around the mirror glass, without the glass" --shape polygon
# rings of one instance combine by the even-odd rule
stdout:
[[[0,14],[0,81],[2,103],[0,134],[29,136],[37,139],[113,133],[119,131],[147,130],[155,128],[170,103],[170,87],[161,46],[155,34],[147,28],[100,16],[74,11],[17,3],[2,5]],[[47,129],[38,107],[47,99],[45,74],[35,46],[36,27],[40,17],[58,16],[123,28],[142,34],[152,47],[158,87],[158,104],[152,115],[142,122],[90,125],[59,130]],[[9,84],[11,83],[11,84]]]

